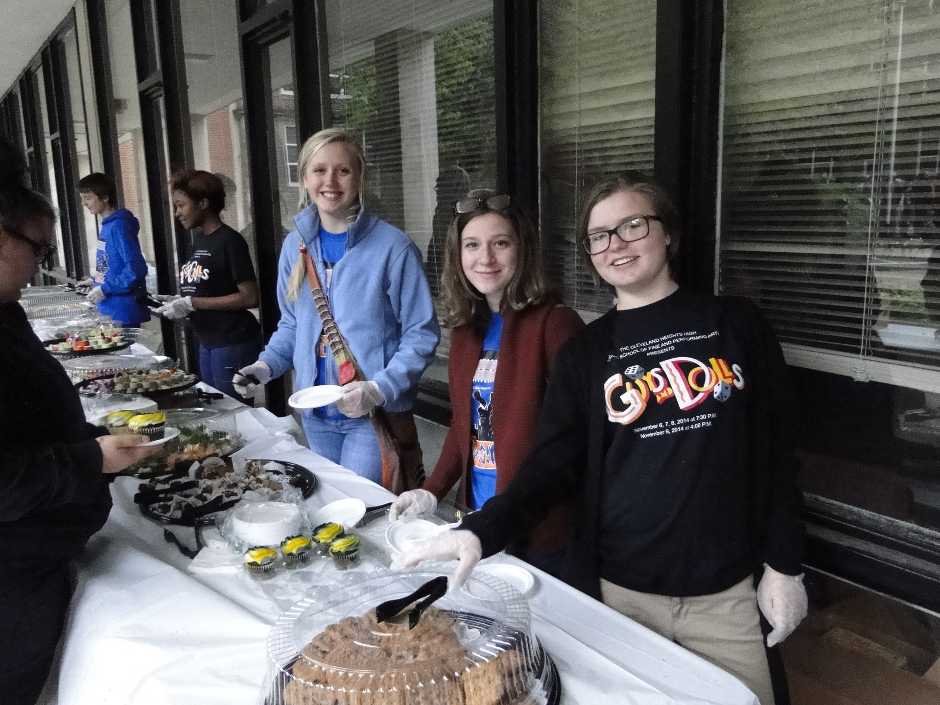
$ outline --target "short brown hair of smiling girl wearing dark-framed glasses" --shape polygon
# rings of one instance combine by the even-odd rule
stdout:
[[[679,252],[679,239],[682,236],[682,220],[679,216],[679,209],[676,208],[675,201],[666,191],[666,187],[656,180],[651,179],[641,171],[623,171],[604,179],[587,192],[584,201],[581,203],[581,210],[578,211],[578,221],[574,230],[574,239],[578,243],[578,255],[591,273],[595,285],[600,285],[601,276],[597,274],[594,262],[587,254],[584,246],[581,244],[587,235],[587,221],[590,220],[590,211],[594,206],[603,201],[607,196],[619,194],[621,191],[629,191],[643,196],[650,201],[653,212],[659,218],[659,223],[663,226],[663,231],[669,236],[669,244],[666,245],[666,258],[669,262],[670,272],[675,267],[676,256]]]

